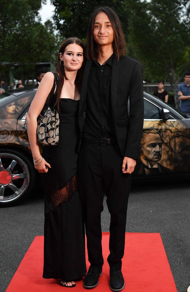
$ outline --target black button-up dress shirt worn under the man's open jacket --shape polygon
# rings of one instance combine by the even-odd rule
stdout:
[[[110,79],[112,54],[104,65],[93,61],[87,86],[87,108],[82,138],[115,138],[113,126]]]

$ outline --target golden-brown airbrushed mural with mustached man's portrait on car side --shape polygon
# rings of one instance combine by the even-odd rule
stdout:
[[[190,173],[190,130],[180,120],[144,121],[135,175]]]

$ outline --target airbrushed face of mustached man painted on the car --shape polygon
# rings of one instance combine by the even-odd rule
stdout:
[[[159,134],[147,134],[141,148],[142,158],[149,162],[158,162],[162,157],[162,144]]]

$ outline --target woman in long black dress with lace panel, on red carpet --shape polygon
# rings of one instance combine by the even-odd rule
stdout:
[[[54,76],[47,72],[27,114],[27,132],[34,167],[43,173],[45,189],[44,271],[46,279],[74,287],[86,274],[84,226],[77,190],[78,108],[84,44],[78,38],[66,39],[58,54],[59,81],[54,92],[59,112],[59,142],[44,146],[42,158],[37,142],[37,117],[51,92]],[[40,159],[39,159],[40,158]]]

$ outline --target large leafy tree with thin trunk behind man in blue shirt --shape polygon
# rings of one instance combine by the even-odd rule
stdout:
[[[177,86],[190,67],[188,0],[130,1],[130,46],[153,79],[167,77],[179,108]]]

